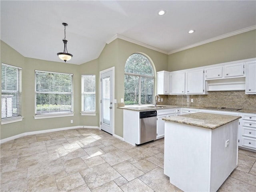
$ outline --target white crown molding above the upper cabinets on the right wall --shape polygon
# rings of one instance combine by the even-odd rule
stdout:
[[[192,44],[192,45],[180,48],[180,49],[170,51],[170,52],[168,52],[168,55],[176,53],[176,52],[180,52],[180,51],[183,51],[183,50],[186,50],[186,49],[190,49],[190,48],[193,48],[193,47],[196,47],[196,46],[200,46],[200,45],[203,45],[203,44],[206,44],[206,43],[210,43],[210,42],[213,42],[213,41],[224,39],[224,38],[227,38],[227,37],[230,37],[230,36],[234,36],[234,35],[238,35],[238,34],[241,34],[241,33],[244,33],[244,32],[255,30],[255,29],[256,29],[256,25],[250,26],[250,27],[247,27],[247,28],[244,28],[244,29],[240,29],[240,30],[230,32],[230,33],[227,33],[227,34],[224,34],[224,35],[220,35],[220,36],[217,36],[217,37],[205,40],[205,41],[201,41],[201,42],[198,42],[198,43],[195,43],[195,44]]]

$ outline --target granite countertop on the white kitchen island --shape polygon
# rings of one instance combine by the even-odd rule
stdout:
[[[216,129],[240,118],[242,117],[198,112],[180,116],[170,116],[168,118],[163,118],[163,120],[207,129]]]

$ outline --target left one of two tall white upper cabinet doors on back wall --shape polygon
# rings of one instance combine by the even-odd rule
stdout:
[[[185,72],[171,75],[171,94],[185,94]]]

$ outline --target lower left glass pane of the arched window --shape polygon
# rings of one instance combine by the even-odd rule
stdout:
[[[124,103],[125,105],[139,104],[139,77],[124,75]]]

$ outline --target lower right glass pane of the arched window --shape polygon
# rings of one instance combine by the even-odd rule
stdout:
[[[153,104],[154,78],[140,78],[140,103]]]

